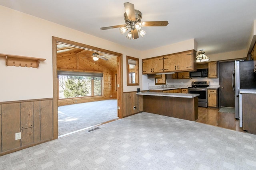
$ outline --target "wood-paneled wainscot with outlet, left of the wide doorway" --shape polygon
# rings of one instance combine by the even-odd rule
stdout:
[[[0,103],[0,155],[53,139],[52,99]],[[15,134],[21,139],[15,140]]]

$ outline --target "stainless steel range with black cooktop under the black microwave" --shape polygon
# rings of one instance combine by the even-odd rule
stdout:
[[[192,82],[191,86],[192,87],[188,88],[188,93],[199,94],[198,106],[199,107],[208,107],[207,87],[210,86],[210,82],[209,81]]]

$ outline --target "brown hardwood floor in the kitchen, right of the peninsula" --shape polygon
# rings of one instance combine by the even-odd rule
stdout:
[[[218,108],[198,107],[198,119],[196,121],[243,132],[243,129],[239,127],[239,120],[235,119],[234,113],[218,112],[218,110]]]

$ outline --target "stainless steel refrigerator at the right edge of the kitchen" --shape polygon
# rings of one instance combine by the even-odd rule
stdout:
[[[254,63],[252,60],[235,61],[232,85],[235,94],[235,117],[239,119],[240,89],[256,89],[256,73],[254,73]]]

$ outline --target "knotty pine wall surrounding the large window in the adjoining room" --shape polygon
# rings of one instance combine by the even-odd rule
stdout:
[[[107,62],[107,61],[105,61]],[[83,72],[102,72],[103,89],[102,96],[85,97],[85,98],[73,98],[58,100],[58,106],[64,106],[68,104],[78,104],[84,102],[94,102],[100,100],[106,100],[109,98],[117,98],[116,91],[116,70],[110,70],[105,66],[92,61],[91,57],[84,58],[81,53],[65,53],[57,55],[57,68],[58,70],[69,71],[83,71]]]

